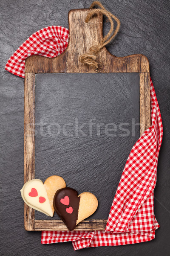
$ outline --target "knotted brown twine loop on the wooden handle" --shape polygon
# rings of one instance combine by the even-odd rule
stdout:
[[[94,45],[90,47],[88,53],[84,53],[80,55],[79,61],[81,63],[88,64],[91,67],[98,68],[98,63],[96,62],[96,58],[97,58],[96,53],[99,52],[99,50],[102,49],[102,47],[104,47],[106,44],[110,43],[113,40],[113,38],[116,36],[116,34],[119,32],[120,20],[115,15],[111,14],[111,12],[108,12],[100,2],[94,1],[91,4],[90,9],[92,9],[94,6],[99,6],[101,9],[91,10],[91,12],[89,12],[86,17],[85,22],[87,23],[94,14],[102,13],[103,15],[108,17],[108,20],[111,23],[111,29],[109,30],[108,34],[105,35],[105,37],[102,39],[102,41],[99,42],[98,45]],[[113,29],[114,29],[113,20],[115,20],[117,23],[117,26],[114,32],[113,32]]]

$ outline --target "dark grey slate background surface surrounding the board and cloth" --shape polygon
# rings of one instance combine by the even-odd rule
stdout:
[[[155,189],[155,215],[160,224],[150,242],[118,247],[87,248],[74,252],[72,244],[40,243],[40,232],[23,228],[23,202],[18,194],[23,184],[24,80],[4,70],[11,54],[35,31],[51,25],[68,27],[68,11],[88,8],[91,1],[1,0],[0,61],[0,253],[21,255],[119,255],[168,256],[170,252],[170,32],[168,0],[105,0],[105,7],[121,20],[121,29],[108,50],[116,56],[142,53],[150,61],[164,126]],[[109,24],[104,26],[105,33]],[[121,157],[121,155],[120,155]]]

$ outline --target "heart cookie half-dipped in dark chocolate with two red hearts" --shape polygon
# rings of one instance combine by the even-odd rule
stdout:
[[[75,189],[65,187],[55,193],[53,205],[59,217],[71,231],[80,221],[96,211],[98,201],[90,192],[78,195]]]

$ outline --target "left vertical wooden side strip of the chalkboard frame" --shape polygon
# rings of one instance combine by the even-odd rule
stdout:
[[[35,74],[26,73],[24,88],[24,183],[35,177]],[[34,230],[34,209],[24,203],[24,227]]]

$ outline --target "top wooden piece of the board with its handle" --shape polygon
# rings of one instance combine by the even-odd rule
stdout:
[[[142,54],[125,57],[112,55],[106,47],[96,54],[98,68],[79,61],[79,56],[99,44],[103,38],[103,15],[98,13],[88,23],[91,9],[74,9],[68,13],[69,42],[67,49],[55,58],[31,56],[26,59],[25,73],[97,73],[149,72],[149,61]]]

